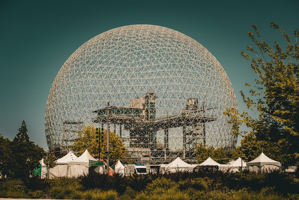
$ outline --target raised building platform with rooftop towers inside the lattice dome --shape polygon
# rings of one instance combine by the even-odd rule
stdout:
[[[192,102],[192,103],[191,103]],[[196,103],[194,103],[196,102]],[[214,117],[206,117],[201,113],[214,108],[198,108],[197,99],[187,99],[187,103],[180,114],[167,115],[162,118],[155,118],[155,96],[146,95],[145,98],[138,97],[130,101],[130,107],[109,106],[93,112],[97,113],[94,123],[106,124],[107,110],[109,109],[109,123],[125,124],[127,129],[149,129],[162,130],[194,124],[206,124],[215,121]],[[134,107],[133,107],[134,106]]]

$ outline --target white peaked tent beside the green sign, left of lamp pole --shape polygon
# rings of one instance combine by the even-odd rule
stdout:
[[[80,175],[88,174],[89,160],[96,160],[92,157],[87,149],[78,158],[68,161],[68,177],[78,177]]]

